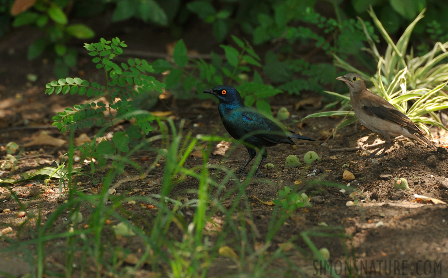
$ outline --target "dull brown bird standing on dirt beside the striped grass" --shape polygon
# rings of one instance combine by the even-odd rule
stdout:
[[[435,147],[424,136],[426,133],[418,128],[408,116],[396,109],[384,98],[370,92],[361,75],[349,73],[336,79],[344,81],[349,86],[350,102],[361,124],[376,133],[381,133],[386,139],[386,142],[378,150],[370,154],[369,157],[382,157],[386,150],[393,145],[390,136],[403,135]],[[381,154],[375,155],[382,149],[384,150]]]

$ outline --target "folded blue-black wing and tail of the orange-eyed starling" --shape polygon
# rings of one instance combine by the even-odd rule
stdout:
[[[255,111],[244,111],[241,113],[241,116],[241,128],[243,128],[247,134],[253,135],[268,142],[274,144],[284,143],[296,145],[289,138],[314,141],[311,138],[302,137],[300,135],[294,134],[293,132],[290,132],[287,129],[281,128],[274,121]]]

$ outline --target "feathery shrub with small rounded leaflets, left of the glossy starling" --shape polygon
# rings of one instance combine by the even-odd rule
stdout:
[[[107,157],[129,152],[129,144],[134,142],[135,145],[135,142],[143,137],[142,133],[147,135],[153,130],[151,122],[155,117],[148,112],[138,111],[133,98],[149,91],[162,92],[164,84],[148,75],[154,73],[154,69],[146,60],[129,59],[128,63],[120,65],[112,61],[123,53],[123,47],[126,47],[124,41],[119,38],[112,38],[110,41],[101,38],[99,43],[86,43],[84,47],[90,51],[90,56],[95,56],[92,62],[96,63],[96,68],[104,69],[106,84],[67,77],[48,83],[45,93],[79,94],[95,99],[89,103],[75,105],[73,109],[66,108],[53,117],[53,125],[63,133],[77,128],[91,128],[94,125],[107,127],[116,120],[134,119],[134,123],[125,132],[114,133],[113,144],[110,141],[101,141],[95,146],[93,141],[87,148],[80,149],[83,154],[96,158],[99,165],[104,166]],[[99,100],[100,97],[105,97],[107,102]],[[114,161],[114,166],[121,171],[124,169],[124,164],[119,161]]]

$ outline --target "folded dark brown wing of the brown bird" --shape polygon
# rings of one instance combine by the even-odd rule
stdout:
[[[374,94],[369,90],[364,90],[361,93],[359,100],[367,114],[399,124],[408,128],[410,133],[417,132],[425,134],[411,119],[409,119],[408,116],[396,109],[392,104],[379,95]]]

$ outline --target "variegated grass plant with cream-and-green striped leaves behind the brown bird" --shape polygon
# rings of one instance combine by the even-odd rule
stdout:
[[[334,63],[336,66],[344,68],[349,72],[360,74],[366,81],[370,80],[374,84],[373,87],[369,88],[370,91],[379,94],[392,103],[433,137],[426,124],[448,130],[442,124],[439,116],[435,114],[436,111],[448,108],[448,95],[444,92],[444,89],[448,89],[448,82],[440,83],[448,80],[448,64],[442,63],[448,57],[446,49],[448,42],[436,43],[430,52],[420,57],[414,57],[412,50],[409,55],[405,55],[412,30],[415,24],[422,19],[424,12],[425,10],[412,21],[397,43],[394,43],[376,17],[373,9],[370,8],[370,16],[373,18],[383,38],[388,42],[384,56],[379,54],[375,41],[370,37],[364,22],[360,19],[370,44],[370,48],[366,49],[366,51],[370,52],[378,62],[375,75],[370,76],[370,74],[354,68],[336,55],[334,55]],[[354,112],[350,110],[350,97],[348,95],[329,91],[324,92],[340,98],[341,108],[337,111],[314,113],[306,116],[304,119],[324,116],[345,116],[346,118],[335,128],[335,132],[357,120]],[[408,104],[411,104],[409,109]]]

